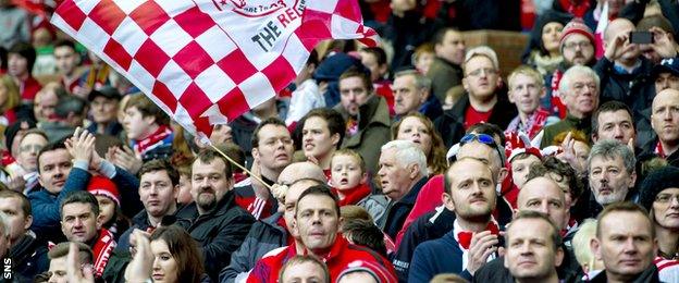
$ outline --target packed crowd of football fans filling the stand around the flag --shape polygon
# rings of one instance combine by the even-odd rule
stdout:
[[[676,0],[359,2],[207,143],[0,0],[3,280],[679,282]]]

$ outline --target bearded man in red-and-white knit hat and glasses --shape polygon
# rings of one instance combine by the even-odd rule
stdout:
[[[559,85],[566,70],[573,65],[592,66],[596,62],[594,58],[594,33],[582,20],[573,19],[561,29],[559,39],[564,62],[554,73],[545,77],[547,95],[542,100],[542,106],[552,113],[558,113],[559,118],[566,118],[566,106],[561,100]]]

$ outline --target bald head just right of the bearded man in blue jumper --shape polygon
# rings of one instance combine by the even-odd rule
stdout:
[[[568,223],[566,196],[559,185],[546,176],[529,180],[523,184],[517,198],[519,211],[532,210],[545,213],[559,229]]]

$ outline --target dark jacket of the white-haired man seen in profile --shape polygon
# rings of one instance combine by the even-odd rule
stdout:
[[[406,218],[415,206],[415,200],[417,199],[418,194],[420,193],[420,188],[424,184],[427,184],[428,177],[422,177],[420,181],[415,183],[415,185],[410,188],[408,194],[402,197],[397,201],[390,201],[386,207],[386,219],[384,221],[384,226],[382,231],[387,234],[392,238],[396,238],[398,231],[403,227]]]

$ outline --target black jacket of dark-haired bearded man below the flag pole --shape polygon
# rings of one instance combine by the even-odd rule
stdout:
[[[178,219],[183,226],[202,247],[206,272],[213,282],[219,272],[231,262],[233,254],[243,244],[255,218],[236,205],[233,192],[226,193],[213,210],[200,216],[196,204],[186,207],[189,219]]]

